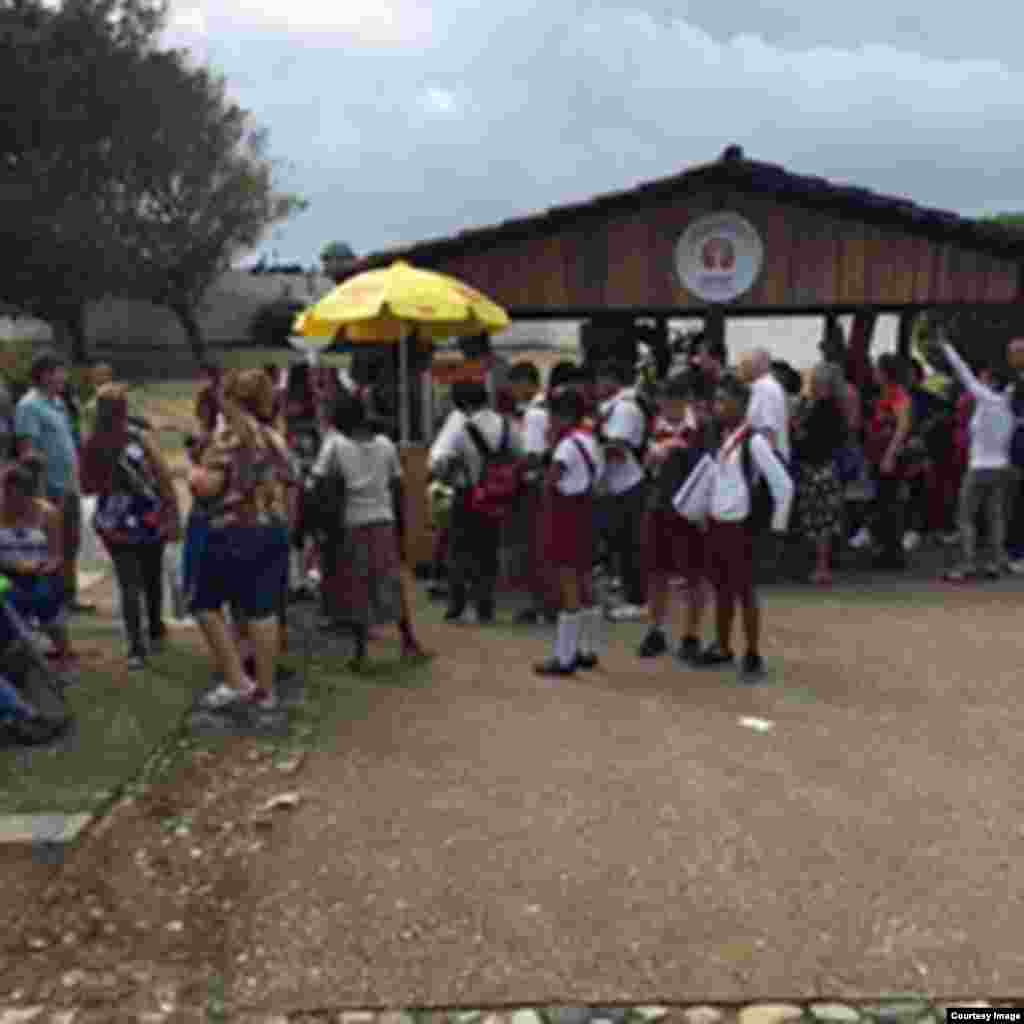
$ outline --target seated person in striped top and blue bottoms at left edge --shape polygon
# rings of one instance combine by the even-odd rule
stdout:
[[[38,493],[31,466],[8,469],[0,498],[0,572],[10,580],[14,610],[38,623],[53,641],[53,656],[69,663],[74,654],[66,624],[60,515]]]

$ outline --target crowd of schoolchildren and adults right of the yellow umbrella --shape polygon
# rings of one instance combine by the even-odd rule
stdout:
[[[730,371],[724,344],[698,335],[660,384],[612,360],[558,364],[544,387],[518,362],[504,394],[455,385],[430,453],[445,620],[472,604],[493,621],[500,548],[518,540],[531,596],[519,621],[556,628],[539,672],[596,664],[605,617],[649,620],[638,653],[665,653],[676,584],[679,656],[732,664],[738,607],[753,680],[764,673],[755,582],[765,565],[785,573],[809,558],[806,578],[826,587],[841,546],[899,571],[935,541],[962,548],[948,582],[1024,572],[1024,341],[1002,366],[974,370],[951,346],[926,348],[930,376],[893,353],[865,374],[830,331],[805,378],[764,349]],[[521,472],[514,499],[496,470],[508,463]],[[602,596],[609,584],[617,603]],[[702,646],[712,595],[715,639]]]

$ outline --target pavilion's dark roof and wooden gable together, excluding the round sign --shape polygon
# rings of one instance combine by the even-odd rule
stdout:
[[[726,302],[683,284],[680,242],[738,215],[762,249]],[[1024,240],[866,188],[794,174],[730,146],[715,163],[535,216],[373,253],[349,272],[407,259],[474,285],[513,319],[903,314],[1024,296]]]

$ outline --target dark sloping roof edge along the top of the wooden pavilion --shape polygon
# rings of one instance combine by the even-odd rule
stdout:
[[[947,210],[922,207],[910,200],[883,196],[868,188],[837,184],[811,175],[794,174],[776,164],[748,160],[742,156],[741,150],[730,146],[722,159],[712,164],[701,164],[680,174],[642,182],[625,191],[606,193],[581,203],[552,207],[529,217],[370,253],[356,260],[350,269],[356,272],[394,259],[416,260],[441,256],[469,245],[486,245],[504,239],[544,234],[554,230],[559,224],[583,216],[636,207],[662,196],[674,196],[708,185],[724,185],[767,195],[781,202],[826,210],[840,217],[886,223],[903,227],[913,234],[957,241],[970,248],[1002,257],[1024,259],[1024,233],[1013,228],[982,223]]]

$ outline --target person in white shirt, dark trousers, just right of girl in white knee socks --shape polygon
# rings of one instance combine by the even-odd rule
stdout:
[[[647,579],[643,561],[647,475],[643,461],[648,441],[647,414],[630,387],[625,364],[607,362],[597,371],[601,400],[601,440],[606,469],[605,541],[623,581],[626,603],[611,612],[614,622],[643,617]]]

